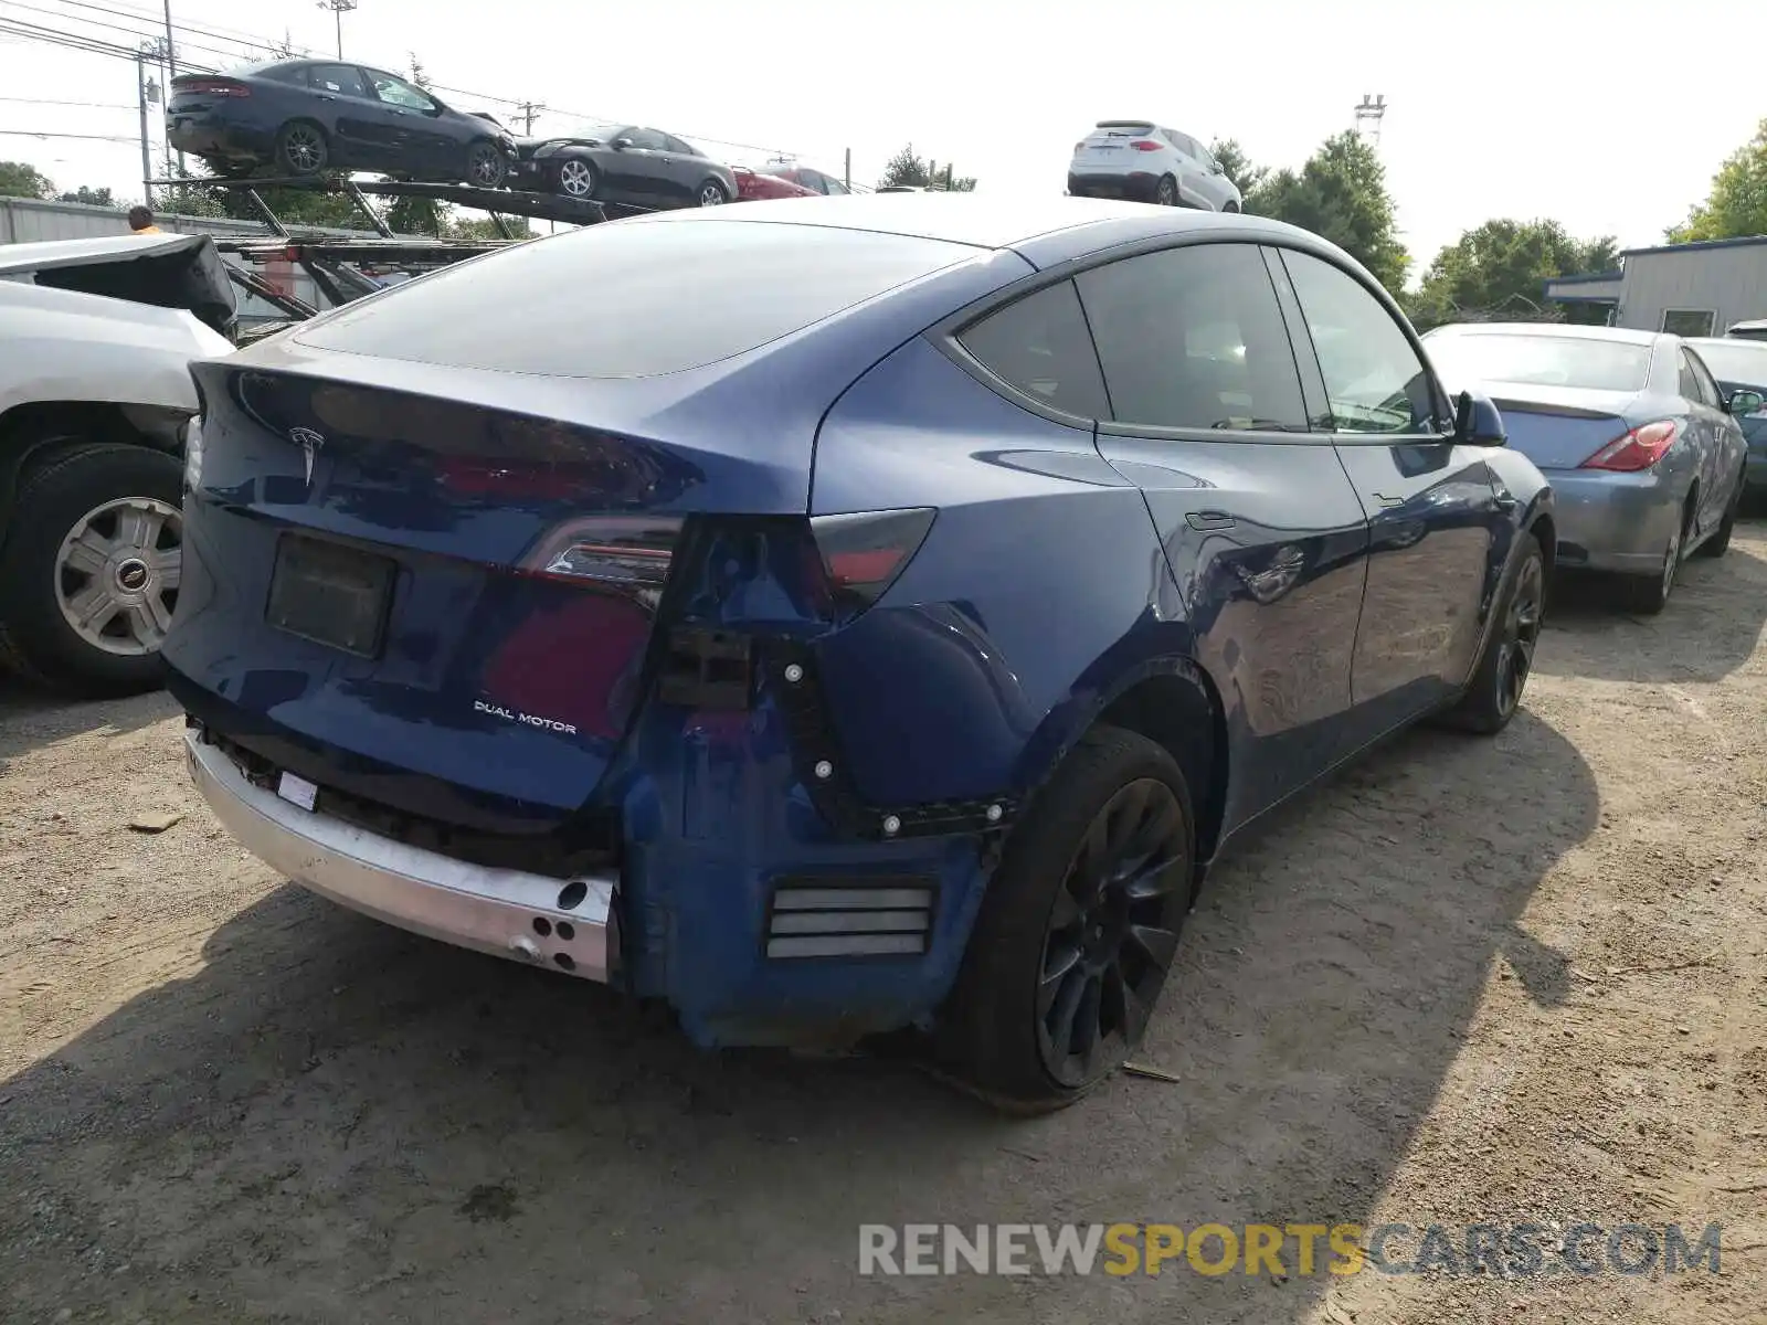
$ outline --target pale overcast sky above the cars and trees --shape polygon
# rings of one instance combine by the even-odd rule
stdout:
[[[988,193],[1060,191],[1101,118],[1150,117],[1299,166],[1385,97],[1380,155],[1414,279],[1490,217],[1657,244],[1767,117],[1762,0],[359,0],[345,55],[422,64],[459,110],[537,132],[650,124],[733,164],[776,152],[875,182],[905,143]],[[316,0],[171,0],[184,58],[226,67],[239,37],[336,53]],[[134,64],[7,32],[35,25],[134,48],[161,0],[0,0],[0,159],[60,189],[140,194]],[[219,35],[216,35],[219,34]],[[1753,76],[1751,76],[1753,74]],[[502,101],[493,101],[498,97]],[[65,106],[46,102],[95,102]],[[150,115],[155,148],[157,108]],[[32,138],[21,132],[90,134]],[[117,141],[113,141],[117,140]]]

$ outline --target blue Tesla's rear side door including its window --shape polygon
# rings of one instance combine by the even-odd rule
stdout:
[[[1256,246],[1159,249],[1074,284],[1110,392],[1099,450],[1141,488],[1196,661],[1226,705],[1230,832],[1359,744],[1366,519],[1331,440],[1308,435]]]

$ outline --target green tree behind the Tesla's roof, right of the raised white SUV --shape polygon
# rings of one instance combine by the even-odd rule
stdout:
[[[1410,256],[1399,244],[1387,170],[1354,129],[1327,138],[1299,171],[1262,180],[1246,210],[1329,238],[1387,290],[1405,284]]]

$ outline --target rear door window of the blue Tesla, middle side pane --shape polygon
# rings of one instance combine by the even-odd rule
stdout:
[[[1145,253],[1076,284],[1117,422],[1308,431],[1288,329],[1255,246]]]

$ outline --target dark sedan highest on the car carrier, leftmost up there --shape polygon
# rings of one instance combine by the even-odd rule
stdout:
[[[516,143],[433,92],[337,60],[279,60],[171,80],[166,136],[223,175],[373,170],[419,180],[504,184]]]

